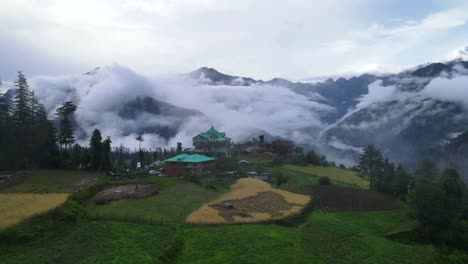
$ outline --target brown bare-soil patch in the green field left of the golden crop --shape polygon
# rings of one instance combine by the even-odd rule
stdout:
[[[96,204],[106,204],[111,201],[117,201],[129,198],[144,198],[158,193],[156,184],[126,184],[112,185],[98,192],[93,201]]]

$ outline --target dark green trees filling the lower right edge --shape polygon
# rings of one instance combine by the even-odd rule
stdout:
[[[468,190],[457,170],[442,172],[431,160],[423,160],[413,173],[395,166],[374,146],[360,155],[357,169],[370,180],[371,190],[407,201],[420,224],[424,241],[466,250],[468,245]],[[464,223],[465,221],[465,223]]]

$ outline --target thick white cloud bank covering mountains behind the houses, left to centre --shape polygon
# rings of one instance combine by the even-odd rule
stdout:
[[[77,135],[80,144],[87,144],[91,132],[98,128],[103,136],[111,137],[113,145],[122,143],[135,148],[137,133],[162,126],[173,128],[176,135],[166,140],[161,135],[144,132],[143,146],[170,148],[182,142],[184,147],[190,147],[192,137],[211,125],[225,131],[234,141],[265,131],[306,143],[311,134],[323,126],[320,116],[333,111],[285,87],[242,86],[242,83],[240,86],[211,86],[184,76],[149,79],[120,65],[102,67],[90,74],[36,76],[29,82],[51,118],[65,101],[77,104],[75,119],[81,128]],[[126,119],[119,115],[122,105],[145,96],[199,110],[204,116],[143,113]]]

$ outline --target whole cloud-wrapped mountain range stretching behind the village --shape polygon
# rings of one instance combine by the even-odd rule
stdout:
[[[236,141],[258,131],[292,138],[347,165],[374,144],[391,160],[414,166],[468,131],[468,62],[461,58],[314,83],[208,67],[149,79],[118,65],[30,83],[50,116],[64,101],[78,104],[74,118],[83,142],[99,127],[116,143],[132,145],[144,134],[149,148],[188,146],[193,135],[216,125]]]

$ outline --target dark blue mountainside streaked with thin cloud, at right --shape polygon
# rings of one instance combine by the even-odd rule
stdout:
[[[316,83],[219,79],[223,74],[211,80],[211,76],[205,75],[205,85],[220,85],[220,80],[222,85],[235,85],[233,78],[249,79],[249,85],[286,87],[331,107],[333,111],[320,115],[322,131],[309,132],[315,138],[310,146],[340,159],[356,161],[360,148],[374,144],[389,158],[412,167],[444,148],[452,135],[468,130],[468,62],[462,58],[398,74],[363,74]]]

